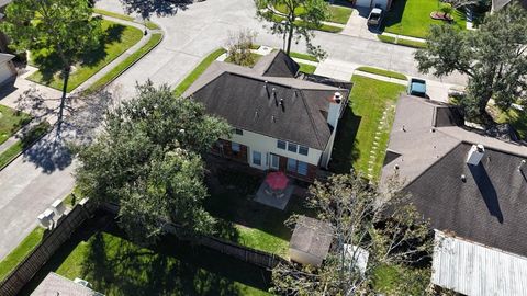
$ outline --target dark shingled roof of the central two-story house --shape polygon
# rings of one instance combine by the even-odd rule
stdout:
[[[265,64],[270,65],[267,69],[274,70],[262,70],[264,62],[255,70],[215,61],[183,96],[192,95],[209,113],[237,128],[324,150],[333,132],[326,121],[328,99],[337,91],[347,99],[350,84],[334,81],[348,83],[348,89],[343,89],[295,77],[261,75],[289,69],[292,59],[283,55],[273,54],[272,61],[266,57]]]

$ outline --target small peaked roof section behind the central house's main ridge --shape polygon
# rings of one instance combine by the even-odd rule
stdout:
[[[300,66],[283,50],[261,57],[253,69],[261,76],[296,77]]]

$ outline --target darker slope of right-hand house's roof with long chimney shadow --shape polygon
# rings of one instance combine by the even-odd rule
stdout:
[[[518,170],[526,158],[486,148],[470,166],[471,146],[458,145],[406,190],[435,229],[527,255],[527,166]]]

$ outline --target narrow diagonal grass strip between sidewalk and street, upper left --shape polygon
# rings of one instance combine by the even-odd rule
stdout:
[[[123,71],[125,71],[128,67],[134,65],[137,60],[139,60],[144,55],[146,55],[148,52],[150,52],[154,47],[159,44],[159,42],[162,39],[162,34],[156,33],[152,34],[148,42],[143,45],[139,49],[134,52],[132,55],[126,57],[123,61],[121,61],[117,66],[115,66],[113,69],[111,69],[109,72],[106,72],[103,77],[101,77],[99,80],[93,82],[88,89],[86,89],[87,93],[91,93],[93,91],[99,90],[100,88],[104,87],[115,78],[117,78]]]

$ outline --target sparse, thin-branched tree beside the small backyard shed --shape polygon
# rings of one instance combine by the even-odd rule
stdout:
[[[407,265],[433,249],[431,229],[395,181],[381,191],[354,174],[334,175],[310,187],[307,205],[316,209],[318,219],[332,225],[334,244],[319,267],[279,264],[272,280],[280,294],[370,294],[379,266]],[[295,217],[288,220],[294,221]],[[360,249],[369,252],[366,267],[360,267]],[[414,285],[424,289],[429,282],[426,274],[426,270],[418,272]],[[410,286],[405,288],[402,294],[412,294]]]

